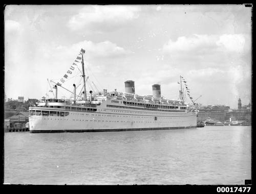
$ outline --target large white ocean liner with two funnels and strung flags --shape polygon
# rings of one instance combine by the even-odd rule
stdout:
[[[75,60],[79,62],[78,60],[81,59],[82,92],[76,94],[77,88],[73,84],[73,92],[70,91],[73,98],[58,99],[58,87],[62,87],[62,84],[56,83],[54,98],[43,97],[36,106],[29,108],[31,133],[170,130],[197,127],[198,110],[189,109],[188,104],[183,100],[184,88],[181,80],[183,77],[180,76],[180,83],[178,82],[181,87],[179,100],[163,98],[159,84],[152,85],[152,95],[137,95],[135,82],[132,80],[124,82],[125,92],[116,89],[108,92],[103,89],[96,94],[90,91],[88,95],[84,74],[84,53],[85,51],[81,49],[79,54],[81,57]],[[76,64],[73,64],[70,69],[74,69]],[[64,78],[67,78],[67,75]]]

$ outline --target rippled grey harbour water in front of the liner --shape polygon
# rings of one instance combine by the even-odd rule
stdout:
[[[251,126],[5,133],[5,184],[244,184]]]

